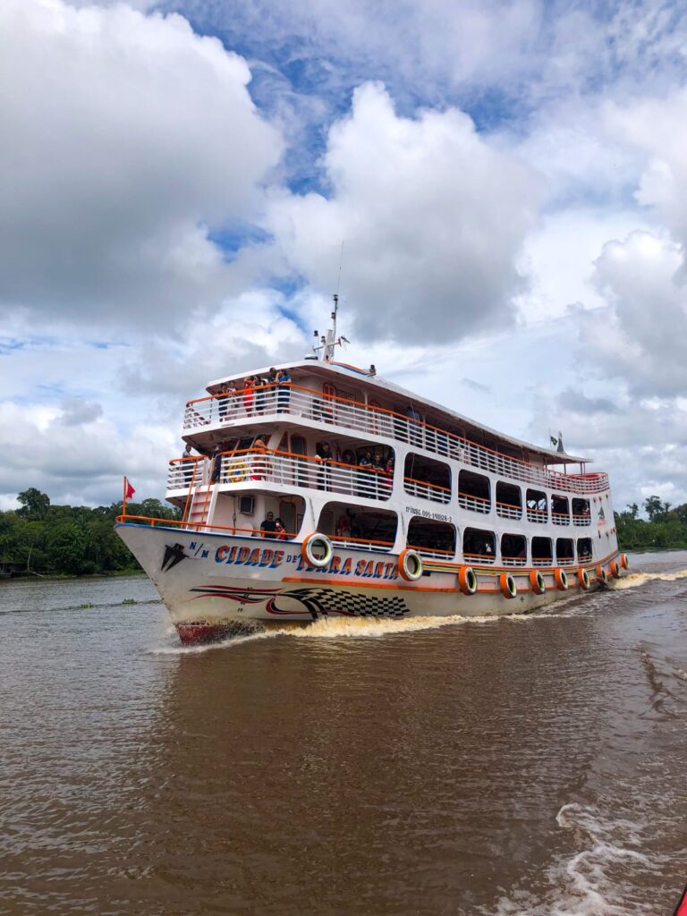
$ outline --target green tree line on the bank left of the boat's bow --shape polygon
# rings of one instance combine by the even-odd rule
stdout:
[[[136,558],[114,531],[122,503],[111,506],[52,506],[49,496],[29,487],[18,509],[0,512],[0,573],[93,575],[139,572]],[[127,502],[128,515],[180,518],[158,499]]]

